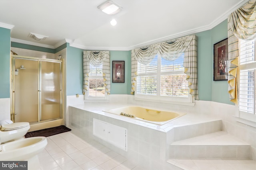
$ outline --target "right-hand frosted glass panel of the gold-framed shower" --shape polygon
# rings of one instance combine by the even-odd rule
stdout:
[[[40,61],[40,121],[61,117],[61,63]]]

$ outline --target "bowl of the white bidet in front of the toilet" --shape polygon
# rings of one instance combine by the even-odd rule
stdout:
[[[46,137],[30,137],[9,142],[0,145],[0,160],[28,160],[44,150],[46,145]]]

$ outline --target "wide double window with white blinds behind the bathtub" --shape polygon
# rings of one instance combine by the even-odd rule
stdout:
[[[167,61],[156,55],[149,64],[137,66],[135,97],[176,102],[191,102],[183,67],[184,55]]]

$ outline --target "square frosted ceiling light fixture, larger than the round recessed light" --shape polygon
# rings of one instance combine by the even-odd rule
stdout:
[[[121,6],[112,2],[111,0],[107,0],[106,2],[103,2],[97,8],[99,8],[102,12],[105,12],[108,15],[117,14],[122,10]]]

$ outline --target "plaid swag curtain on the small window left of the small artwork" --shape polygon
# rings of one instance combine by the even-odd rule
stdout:
[[[90,73],[90,64],[100,66],[102,64],[103,82],[105,92],[110,94],[110,56],[109,51],[84,51],[84,84],[83,92],[88,91],[88,77]]]

